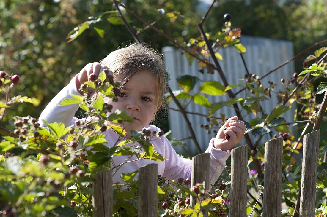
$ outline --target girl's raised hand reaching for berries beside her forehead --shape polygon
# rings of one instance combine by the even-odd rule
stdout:
[[[99,76],[100,72],[104,69],[108,69],[105,65],[100,63],[89,63],[78,73],[76,77],[76,87],[79,89],[80,85],[86,81],[90,81],[90,74],[95,73],[96,76]],[[109,70],[109,69],[108,69]],[[112,75],[112,71],[109,70],[109,74]],[[92,90],[91,90],[92,92]]]

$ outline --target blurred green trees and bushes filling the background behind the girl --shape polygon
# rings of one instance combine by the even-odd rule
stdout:
[[[121,1],[144,20],[155,24],[166,35],[182,42],[198,37],[195,25],[212,1],[129,0]],[[242,33],[275,39],[292,40],[295,53],[326,38],[327,16],[324,0],[224,0],[217,1],[204,29],[217,31],[223,15],[230,13],[234,27]],[[162,9],[160,9],[162,8]],[[177,19],[162,17],[157,11],[175,13]],[[0,2],[0,70],[21,76],[16,93],[33,98],[35,105],[24,103],[9,109],[10,116],[38,117],[46,104],[89,62],[98,62],[105,55],[133,41],[124,25],[113,19],[105,26],[105,37],[86,30],[76,40],[66,43],[68,33],[78,24],[104,11],[115,10],[110,0],[3,0]],[[136,30],[145,25],[125,10]],[[155,49],[171,45],[151,29],[140,39]],[[310,53],[311,54],[311,53]],[[306,54],[303,55],[303,58]],[[301,66],[303,58],[297,60]],[[301,69],[297,69],[301,70]],[[2,97],[2,96],[1,96]],[[8,116],[7,116],[8,117]],[[5,120],[5,122],[11,120]]]

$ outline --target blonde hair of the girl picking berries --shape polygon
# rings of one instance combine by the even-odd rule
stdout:
[[[155,78],[157,105],[163,101],[166,86],[163,61],[154,49],[142,43],[133,43],[117,49],[100,61],[113,72],[114,82],[119,82],[122,88],[138,71],[146,70]]]

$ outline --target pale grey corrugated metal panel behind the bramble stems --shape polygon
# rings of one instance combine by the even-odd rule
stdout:
[[[294,55],[293,43],[291,41],[242,36],[241,43],[247,49],[247,52],[243,54],[243,56],[246,61],[249,72],[257,74],[259,76],[266,74],[269,70],[272,70],[274,67],[280,65],[281,63],[283,63]],[[165,54],[163,58],[165,69],[170,75],[170,80],[168,84],[172,90],[180,89],[180,87],[177,85],[176,78],[185,74],[197,76],[202,81],[219,81],[222,84],[222,81],[217,72],[215,72],[215,74],[213,75],[207,74],[206,72],[204,74],[201,74],[200,72],[198,72],[199,67],[197,61],[195,60],[192,66],[190,66],[186,57],[182,54],[180,50],[177,50],[173,47],[164,47],[163,52]],[[243,78],[246,74],[246,70],[242,63],[240,54],[235,48],[220,49],[218,52],[220,52],[223,57],[223,61],[220,61],[220,66],[225,73],[228,83],[240,83],[238,79]],[[268,81],[272,81],[274,83],[281,84],[281,78],[285,78],[287,80],[292,76],[294,71],[294,62],[292,62],[282,67],[281,69],[278,69],[277,71],[271,73],[269,76],[264,78],[262,82],[264,84],[267,84]],[[200,84],[197,84],[195,86],[195,90],[197,90],[199,86]],[[267,87],[267,85],[265,85],[265,87]],[[239,89],[240,88],[234,88],[232,89],[232,91],[235,93]],[[275,91],[278,91],[279,89],[283,89],[283,86],[281,85],[275,87]],[[274,93],[272,93],[271,95],[271,100],[261,102],[262,108],[268,114],[273,108],[278,105],[276,95]],[[244,96],[244,91],[237,95],[237,97]],[[227,94],[221,97],[206,97],[208,97],[209,101],[211,102],[227,101],[229,99]],[[177,106],[173,101],[169,103],[169,106],[177,109]],[[283,116],[287,121],[291,122],[293,120],[295,108],[296,106],[294,104],[292,109]],[[208,109],[203,106],[194,104],[193,102],[191,102],[191,104],[187,107],[187,111],[202,114],[208,113]],[[226,117],[231,117],[235,115],[234,109],[232,107],[221,108],[215,113],[215,115],[219,116],[220,113],[225,114]],[[242,112],[242,114],[245,115],[246,113]],[[207,134],[204,129],[200,128],[201,124],[207,123],[205,117],[197,115],[188,115],[188,117],[197,135],[200,147],[204,151],[207,148],[210,139],[213,138],[215,135],[213,133]],[[250,121],[253,117],[253,115],[244,116],[244,119],[246,121]],[[187,125],[179,112],[169,110],[169,121],[173,138],[183,139],[190,136],[190,133],[187,129]],[[264,139],[268,140],[270,138],[268,137],[268,135],[266,135]],[[192,140],[186,140],[186,143],[189,144],[188,147],[190,152],[197,152]],[[242,141],[242,145],[243,144],[245,144],[245,140]],[[181,151],[182,149],[177,148],[176,150]]]

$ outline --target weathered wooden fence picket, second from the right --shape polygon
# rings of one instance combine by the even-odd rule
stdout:
[[[263,216],[282,216],[283,138],[265,144]]]

